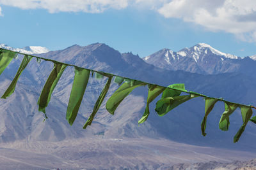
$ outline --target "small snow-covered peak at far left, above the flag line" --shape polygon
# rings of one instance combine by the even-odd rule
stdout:
[[[49,50],[43,46],[25,46],[24,48],[12,48],[11,46],[0,44],[0,48],[28,54],[49,52]]]

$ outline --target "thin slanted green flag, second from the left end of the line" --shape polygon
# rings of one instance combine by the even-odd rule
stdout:
[[[10,84],[10,86],[8,87],[8,89],[4,92],[3,96],[1,98],[6,99],[6,97],[11,96],[11,94],[14,92],[15,87],[16,87],[16,83],[20,77],[20,74],[22,73],[22,71],[26,68],[26,66],[28,65],[29,61],[32,59],[32,56],[30,55],[24,55],[24,58],[20,64],[20,67],[15,75],[15,77],[12,80],[12,83]]]

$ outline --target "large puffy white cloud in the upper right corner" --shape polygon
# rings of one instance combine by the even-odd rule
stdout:
[[[166,18],[181,18],[210,31],[225,31],[244,41],[256,41],[255,0],[173,0],[158,10]]]

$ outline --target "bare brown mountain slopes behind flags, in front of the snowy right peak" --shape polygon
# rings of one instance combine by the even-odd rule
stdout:
[[[164,86],[172,83],[185,83],[186,89],[202,92],[208,96],[223,97],[230,101],[245,104],[256,103],[254,95],[256,80],[252,79],[251,76],[239,72],[209,75],[161,69],[152,64],[148,64],[137,55],[133,55],[132,53],[120,53],[108,45],[101,43],[88,46],[74,45],[64,50],[38,55],[69,64],[76,64],[81,67],[120,74],[129,78]],[[1,94],[3,94],[4,90],[6,90],[10,84],[21,60],[21,56],[17,60],[13,60],[10,66],[1,74]],[[256,148],[252,147],[256,140],[256,129],[255,124],[251,122],[247,125],[239,143],[232,143],[232,137],[242,124],[239,109],[230,117],[230,131],[222,132],[218,129],[218,122],[224,110],[224,104],[221,102],[216,104],[214,110],[212,110],[209,115],[206,129],[207,136],[205,137],[203,137],[200,132],[200,123],[204,117],[204,99],[202,98],[192,99],[175,108],[175,110],[164,117],[158,117],[156,113],[154,113],[155,103],[152,102],[150,104],[150,116],[147,122],[138,127],[138,120],[143,115],[145,101],[147,99],[147,87],[141,87],[134,90],[134,92],[118,106],[115,115],[112,116],[106,111],[104,104],[118,87],[115,83],[111,83],[111,88],[106,97],[107,99],[105,99],[102,107],[98,111],[93,124],[84,131],[83,124],[92,112],[93,105],[104,83],[106,83],[106,79],[95,80],[95,78],[90,78],[77,119],[74,125],[70,127],[67,120],[65,120],[65,113],[74,79],[74,69],[72,67],[67,67],[61,76],[52,94],[51,102],[46,108],[46,113],[49,118],[45,120],[45,122],[42,122],[44,115],[37,111],[36,102],[47,80],[47,76],[51,72],[52,66],[53,63],[51,62],[42,61],[39,64],[35,59],[31,60],[28,67],[26,67],[20,76],[13,95],[6,100],[0,100],[0,107],[4,110],[0,115],[0,141],[3,147],[13,150],[19,150],[20,147],[28,152],[35,152],[35,150],[44,150],[45,145],[45,147],[51,148],[52,152],[60,153],[56,155],[56,153],[48,152],[50,155],[54,155],[54,157],[59,157],[62,163],[64,160],[71,159],[68,157],[69,153],[71,155],[79,153],[76,157],[77,162],[74,160],[76,164],[79,165],[83,161],[89,161],[90,158],[88,154],[101,153],[102,148],[100,147],[102,147],[102,145],[104,145],[105,148],[109,147],[106,155],[109,155],[109,152],[111,152],[113,159],[123,157],[124,153],[131,153],[132,155],[136,153],[138,154],[136,159],[143,162],[143,164],[147,162],[147,159],[143,159],[140,152],[137,152],[136,147],[141,148],[141,152],[145,152],[145,154],[148,154],[146,151],[152,153],[152,155],[155,153],[159,154],[159,158],[167,155],[168,159],[166,159],[166,161],[164,160],[165,162],[160,161],[159,164],[171,164],[172,162],[170,161],[173,158],[172,153],[165,153],[164,150],[171,150],[170,148],[176,147],[179,148],[179,151],[176,152],[182,155],[186,153],[186,150],[182,150],[184,145],[190,147],[200,145],[201,148],[197,148],[197,150],[202,150],[202,153],[203,151],[207,151],[207,148],[209,148],[209,150],[204,153],[205,155],[200,155],[200,160],[192,159],[195,155],[186,159],[182,159],[182,156],[179,156],[180,161],[178,161],[178,163],[189,163],[189,161],[204,162],[211,160],[208,159],[210,157],[225,158],[228,157],[228,155],[238,156],[229,157],[227,161],[243,158],[250,159],[253,157],[252,153],[256,151]],[[95,146],[96,143],[93,145],[92,141],[96,141],[97,138],[109,141],[109,143],[115,139],[124,139],[124,142],[138,140],[141,141],[141,145],[139,144],[140,142],[138,142],[136,143],[137,146],[132,146],[133,149],[129,147],[125,148],[126,146],[120,145],[120,143],[116,143],[116,145],[110,147],[108,142]],[[143,144],[151,139],[152,143],[157,143],[159,146],[163,145],[163,148],[156,150],[154,149],[156,145],[152,146],[147,144],[146,146]],[[163,140],[167,140],[166,143],[163,143]],[[90,143],[90,146],[95,147],[94,150],[92,149],[92,153],[86,151],[88,148],[79,152],[78,150],[74,150],[74,148],[70,150],[71,146],[67,146],[66,141],[72,141],[71,143],[75,141],[81,142],[77,143],[76,146],[74,145],[74,148],[81,148],[84,143]],[[168,142],[177,142],[177,145],[170,147],[167,144]],[[17,145],[18,143],[22,144]],[[54,150],[54,143],[66,143],[65,145],[63,144],[64,151],[62,152],[61,148],[60,150]],[[117,150],[114,151],[114,148],[117,148]],[[24,152],[24,150],[22,149],[22,152]],[[118,150],[123,150],[123,152],[120,153]],[[189,150],[189,148],[187,150]],[[218,150],[218,152],[216,152],[216,150]],[[225,150],[227,155],[220,156],[221,150]],[[232,150],[234,150],[236,154],[232,153]],[[12,150],[4,150],[4,152],[9,154],[9,152],[12,153]],[[173,152],[175,152],[175,150],[173,150]],[[196,150],[191,151],[191,155],[195,152]],[[38,154],[40,154],[40,157],[45,156],[44,159],[47,158],[46,153],[44,153],[46,155],[42,155],[43,152],[38,152]],[[97,157],[98,159],[102,158],[102,162],[99,163],[99,166],[106,164],[106,162],[104,162],[104,154],[98,154]],[[3,160],[10,158],[12,158],[12,156],[6,156],[5,158],[3,157]],[[152,156],[152,158],[154,157]],[[214,160],[220,161],[220,158]],[[17,158],[17,160],[20,160],[20,158]],[[151,160],[153,161],[153,159],[150,159],[150,161]],[[93,160],[90,159],[90,161],[92,162]],[[134,160],[131,160],[131,162],[132,161]],[[116,163],[118,164],[117,167],[120,167],[121,162],[120,160],[119,163]],[[172,164],[174,163],[175,162],[172,162]],[[154,162],[154,164],[156,164],[156,162]],[[111,167],[110,165],[111,164],[109,164],[109,168]],[[136,165],[137,163],[129,164],[127,167],[135,167]],[[150,162],[144,166],[147,167],[149,165]],[[73,166],[74,164],[72,164],[71,167]],[[85,166],[85,164],[81,164],[79,167],[83,166]]]

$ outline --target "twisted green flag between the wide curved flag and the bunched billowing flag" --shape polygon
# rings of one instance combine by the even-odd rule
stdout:
[[[163,92],[165,88],[164,87],[159,87],[156,85],[150,85],[148,87],[148,98],[147,98],[147,106],[145,108],[143,117],[139,120],[139,124],[142,124],[143,122],[145,122],[148,118],[149,115],[149,104],[156,99],[157,96],[159,96],[159,94],[161,94]]]

